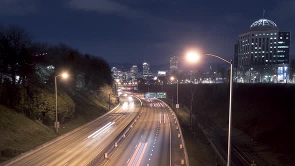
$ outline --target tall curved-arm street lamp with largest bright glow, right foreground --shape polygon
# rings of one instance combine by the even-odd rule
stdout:
[[[229,120],[228,120],[228,147],[227,147],[227,166],[230,165],[230,153],[231,153],[231,97],[232,97],[232,60],[226,60],[220,56],[214,54],[204,54],[208,56],[217,57],[230,64],[230,85],[229,85]],[[189,62],[195,62],[198,59],[198,54],[196,52],[188,52],[186,58]]]

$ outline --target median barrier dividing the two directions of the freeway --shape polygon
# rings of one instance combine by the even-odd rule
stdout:
[[[133,97],[135,97],[135,96],[133,96]],[[128,132],[130,126],[133,126],[133,124],[135,123],[134,120],[137,119],[142,114],[143,103],[141,102],[141,100],[138,97],[135,97],[135,98],[137,98],[140,101],[141,107],[136,112],[136,115],[134,116],[134,118],[127,125],[125,125],[125,127],[106,146],[104,146],[85,166],[97,164],[96,162],[99,159],[101,159],[101,157],[104,155],[104,152],[110,151],[111,148],[114,148],[115,142],[118,143],[121,140],[121,138],[123,137],[123,134]]]

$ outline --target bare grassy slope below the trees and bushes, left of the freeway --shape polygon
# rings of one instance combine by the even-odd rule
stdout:
[[[60,124],[59,134],[52,127],[0,105],[0,162],[41,145],[107,111],[107,103],[98,101],[93,95],[77,92],[72,99],[75,102],[74,118]]]

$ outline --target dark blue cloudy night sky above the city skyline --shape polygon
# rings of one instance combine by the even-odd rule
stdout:
[[[233,58],[263,8],[281,31],[295,29],[295,0],[0,0],[0,24],[108,62],[161,64],[191,47]]]

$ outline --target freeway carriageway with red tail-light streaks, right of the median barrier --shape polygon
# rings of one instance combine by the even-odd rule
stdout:
[[[104,165],[174,165],[172,120],[157,99],[144,99],[143,113]]]

